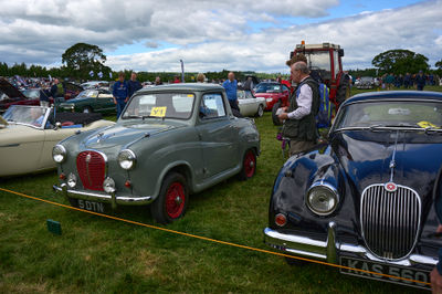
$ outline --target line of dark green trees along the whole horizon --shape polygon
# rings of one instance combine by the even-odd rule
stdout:
[[[97,45],[77,43],[69,48],[62,54],[62,66],[46,69],[41,65],[30,65],[25,63],[13,64],[9,66],[6,62],[0,62],[0,76],[27,76],[27,77],[44,77],[56,76],[61,78],[71,78],[76,81],[86,80],[103,80],[112,81],[117,78],[118,73],[113,71],[109,66],[105,65],[106,55],[103,50]],[[428,63],[429,59],[422,54],[414,53],[410,50],[389,50],[382,52],[373,57],[371,64],[372,69],[351,70],[349,73],[356,76],[381,76],[386,73],[406,74],[418,73],[424,71],[425,73],[433,73],[442,76],[442,59],[438,61],[434,66],[436,70],[431,70]],[[124,70],[126,78],[130,77],[131,70]],[[259,78],[275,78],[278,75],[287,77],[287,74],[266,74],[255,72],[240,72],[233,71],[238,80],[245,80],[246,75],[253,74]],[[229,71],[222,70],[221,72],[207,72],[206,77],[209,81],[225,80]],[[193,82],[198,73],[187,72],[185,74],[186,82]],[[140,82],[155,81],[159,76],[161,81],[173,81],[176,76],[181,76],[181,73],[173,72],[138,72],[138,80]]]

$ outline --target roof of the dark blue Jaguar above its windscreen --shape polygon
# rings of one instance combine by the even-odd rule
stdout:
[[[341,106],[364,101],[372,99],[434,99],[442,101],[441,92],[432,91],[381,91],[381,92],[367,92],[355,95],[346,99]]]

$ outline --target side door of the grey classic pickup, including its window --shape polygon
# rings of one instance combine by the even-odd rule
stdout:
[[[204,94],[201,98],[197,132],[204,161],[204,178],[219,175],[239,162],[239,128],[227,112],[221,93]]]

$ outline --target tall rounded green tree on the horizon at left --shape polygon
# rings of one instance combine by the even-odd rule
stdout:
[[[62,55],[62,62],[66,65],[66,73],[74,77],[90,78],[90,72],[94,72],[94,77],[98,72],[103,76],[108,76],[110,67],[104,65],[106,55],[97,45],[76,43],[69,48]]]

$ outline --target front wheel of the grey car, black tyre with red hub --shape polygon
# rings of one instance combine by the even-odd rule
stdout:
[[[181,218],[189,202],[186,178],[170,172],[162,180],[158,198],[150,204],[154,219],[159,223],[170,223]]]

